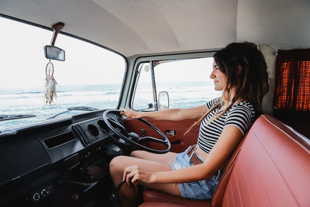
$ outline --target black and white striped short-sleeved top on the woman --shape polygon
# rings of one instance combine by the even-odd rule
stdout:
[[[207,109],[210,109],[217,100],[216,98],[208,101],[206,103]],[[206,153],[209,153],[213,148],[224,127],[235,126],[245,135],[255,118],[253,105],[247,101],[242,101],[233,105],[225,114],[207,124],[207,121],[220,110],[219,108],[211,111],[200,124],[197,145]]]

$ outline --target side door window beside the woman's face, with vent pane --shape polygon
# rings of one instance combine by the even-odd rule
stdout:
[[[169,108],[188,108],[205,104],[221,95],[214,90],[210,79],[213,58],[197,58],[154,62],[156,96],[166,91],[169,96]],[[149,63],[140,64],[139,80],[134,95],[133,109],[146,110],[154,97],[152,71]]]

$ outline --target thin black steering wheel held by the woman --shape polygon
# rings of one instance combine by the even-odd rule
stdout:
[[[112,130],[117,136],[119,136],[120,138],[122,138],[126,142],[130,143],[131,145],[137,147],[138,149],[142,149],[142,150],[145,150],[148,152],[153,152],[156,154],[164,154],[164,153],[167,153],[168,151],[170,151],[171,144],[170,144],[169,139],[150,122],[148,122],[144,119],[138,119],[140,122],[146,124],[147,126],[151,127],[153,130],[155,130],[155,132],[157,134],[159,134],[163,139],[153,138],[153,137],[149,137],[149,136],[140,138],[139,135],[137,135],[136,133],[133,133],[133,132],[128,133],[123,125],[119,124],[118,122],[116,122],[115,120],[113,120],[111,118],[108,118],[108,116],[107,116],[110,113],[114,113],[114,114],[120,116],[120,112],[121,112],[121,110],[117,110],[117,109],[108,109],[108,110],[103,112],[103,121],[105,122],[106,126],[108,128],[110,128],[110,130]],[[119,129],[120,132],[117,129]],[[164,150],[157,150],[157,149],[153,149],[153,148],[150,148],[150,147],[147,147],[147,146],[141,144],[141,143],[145,143],[145,142],[149,142],[149,141],[165,144],[165,145],[167,145],[167,148]]]

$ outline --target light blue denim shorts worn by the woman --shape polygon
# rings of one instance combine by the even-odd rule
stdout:
[[[170,164],[172,170],[177,170],[194,165],[190,159],[192,155],[190,155],[190,157],[189,155],[187,155],[187,151],[189,149],[190,147],[187,148],[184,152],[178,153],[175,156],[174,163]],[[199,155],[197,154],[197,156]],[[204,160],[202,157],[199,158]],[[219,169],[216,175],[207,180],[201,180],[192,183],[179,183],[178,185],[182,198],[196,200],[212,199],[221,173],[222,171]]]

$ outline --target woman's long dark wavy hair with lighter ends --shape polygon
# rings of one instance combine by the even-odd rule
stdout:
[[[269,91],[267,65],[262,53],[254,43],[231,43],[224,49],[217,51],[213,58],[219,70],[226,74],[227,84],[219,101],[192,127],[199,125],[213,109],[224,105],[227,106],[224,110],[215,114],[209,122],[220,117],[239,98],[248,99],[254,106],[255,111],[258,112],[261,110],[263,96]],[[231,97],[233,88],[235,94]]]

